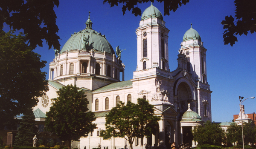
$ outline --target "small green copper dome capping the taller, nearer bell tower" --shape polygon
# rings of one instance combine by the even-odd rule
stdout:
[[[153,6],[152,3],[151,3],[151,6],[149,6],[147,9],[145,9],[143,14],[141,15],[141,20],[146,20],[146,19],[148,19],[150,17],[152,17],[152,18],[157,18],[158,17],[161,20],[163,20],[163,15],[157,9],[157,7]]]

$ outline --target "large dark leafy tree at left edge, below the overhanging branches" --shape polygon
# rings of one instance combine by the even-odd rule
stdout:
[[[47,62],[26,41],[22,34],[0,31],[0,129],[35,106],[48,90],[46,73],[41,72]]]

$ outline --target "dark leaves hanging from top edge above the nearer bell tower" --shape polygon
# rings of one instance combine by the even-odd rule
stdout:
[[[105,3],[109,3],[111,7],[118,6],[118,4],[123,3],[122,12],[125,14],[125,11],[131,11],[136,17],[138,15],[141,15],[141,10],[137,6],[138,3],[147,3],[147,2],[154,2],[154,0],[104,0]],[[189,3],[189,0],[157,0],[157,2],[164,3],[164,15],[170,15],[170,11],[175,12],[179,6],[182,6],[182,4],[186,5],[186,3]]]

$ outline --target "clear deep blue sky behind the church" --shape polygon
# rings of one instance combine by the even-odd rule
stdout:
[[[137,6],[143,12],[151,3]],[[162,14],[163,3],[156,0],[153,3]],[[183,35],[190,29],[192,23],[207,49],[207,81],[212,91],[212,121],[229,122],[233,115],[239,114],[239,96],[244,99],[256,96],[256,34],[238,36],[238,42],[231,47],[224,45],[223,25],[225,16],[234,16],[234,0],[190,0],[177,11],[163,16],[169,32],[169,69],[177,68],[177,55]],[[141,16],[135,17],[131,11],[122,14],[122,4],[111,7],[103,0],[60,0],[55,7],[57,15],[58,36],[61,38],[61,48],[74,32],[84,29],[88,19],[93,22],[92,29],[105,34],[113,49],[119,46],[126,49],[122,52],[121,60],[125,64],[125,80],[133,77],[137,66],[137,36]],[[9,27],[4,28],[5,31]],[[54,59],[54,50],[48,50],[44,42],[43,47],[37,47],[35,52],[41,54],[41,60],[47,61],[42,71],[49,73],[49,63]],[[46,79],[48,79],[48,74]],[[245,113],[256,112],[256,99],[244,102]]]

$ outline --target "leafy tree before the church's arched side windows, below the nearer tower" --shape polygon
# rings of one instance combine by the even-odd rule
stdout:
[[[106,115],[106,130],[100,132],[104,140],[114,137],[128,140],[130,148],[136,137],[149,137],[157,130],[160,117],[154,116],[154,106],[145,99],[138,99],[137,104],[120,103]]]

